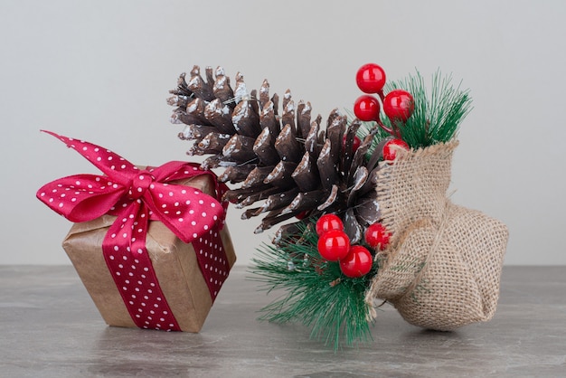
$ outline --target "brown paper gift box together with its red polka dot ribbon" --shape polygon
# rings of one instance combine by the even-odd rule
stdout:
[[[63,249],[105,322],[199,332],[236,260],[218,201],[225,185],[198,165],[140,169],[56,137],[106,174],[64,177],[37,194],[75,222]]]

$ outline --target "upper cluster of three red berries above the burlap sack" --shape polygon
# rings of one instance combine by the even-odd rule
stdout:
[[[383,94],[385,85],[385,71],[375,63],[364,64],[357,71],[355,81],[358,88],[364,94],[355,100],[354,114],[364,122],[375,121],[380,128],[387,131],[393,137],[401,138],[401,133],[397,128],[399,123],[405,123],[415,109],[414,99],[407,90],[391,90],[387,95]],[[391,120],[391,128],[387,128],[382,123],[380,117],[380,101],[372,96],[377,94],[382,100],[383,112]]]

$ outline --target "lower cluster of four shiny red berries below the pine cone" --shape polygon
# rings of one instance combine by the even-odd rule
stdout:
[[[372,270],[372,253],[362,245],[350,245],[344,224],[335,214],[325,214],[316,222],[318,253],[328,261],[338,261],[344,276],[362,277]],[[373,249],[383,250],[390,234],[381,223],[374,223],[365,232],[365,242]]]

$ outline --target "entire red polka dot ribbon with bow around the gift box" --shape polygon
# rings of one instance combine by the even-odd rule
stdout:
[[[169,162],[142,170],[106,148],[45,132],[75,149],[104,175],[63,177],[43,185],[37,197],[71,222],[116,215],[102,251],[130,316],[140,328],[180,330],[146,250],[147,225],[150,220],[163,222],[180,240],[193,243],[213,301],[230,270],[219,234],[227,203],[171,182],[211,175],[217,198],[227,186],[196,164]]]

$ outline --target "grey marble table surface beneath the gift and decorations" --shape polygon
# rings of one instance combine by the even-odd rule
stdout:
[[[385,306],[373,343],[337,353],[232,269],[199,334],[106,326],[71,266],[0,266],[2,377],[566,376],[566,267],[505,267],[493,320],[441,333]]]

